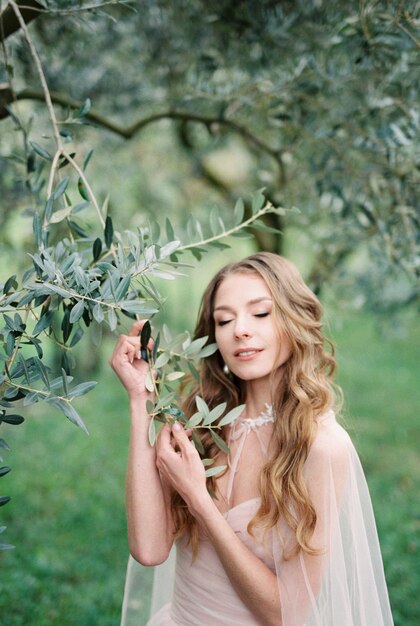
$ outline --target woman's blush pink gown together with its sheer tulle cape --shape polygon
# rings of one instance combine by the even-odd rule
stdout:
[[[241,496],[235,475],[240,473],[243,485],[251,455],[258,456],[256,439],[262,458],[267,455],[273,419],[268,407],[257,418],[234,423],[229,440],[231,468],[224,485],[230,508],[223,515],[249,550],[276,574],[279,625],[392,626],[366,480],[353,444],[332,411],[317,420],[303,471],[317,513],[311,546],[318,553],[299,552],[285,558],[294,545],[294,535],[283,520],[264,534],[255,533],[255,538],[248,534],[248,522],[260,499],[232,506],[235,489],[236,501]],[[158,591],[161,597],[158,603],[152,602],[147,626],[261,624],[239,598],[210,541],[203,538],[195,561],[191,556],[187,541],[181,538],[174,567],[163,564],[156,568],[154,593]],[[144,595],[137,582],[140,577],[136,579],[139,568],[130,559],[121,626],[143,626],[139,615]]]

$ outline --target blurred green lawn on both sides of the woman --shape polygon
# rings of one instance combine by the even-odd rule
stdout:
[[[344,419],[370,485],[396,626],[420,623],[417,381],[420,330],[381,335],[357,315],[334,331],[346,394]],[[0,553],[2,626],[117,626],[127,541],[127,402],[106,368],[79,402],[86,437],[46,408],[2,427],[13,472],[0,510],[15,550]],[[151,570],[139,594],[149,601]],[[339,625],[337,625],[339,626]],[[374,626],[374,625],[372,625]]]

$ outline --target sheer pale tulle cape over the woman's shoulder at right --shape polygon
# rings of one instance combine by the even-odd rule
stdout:
[[[366,479],[353,444],[329,411],[305,462],[317,512],[312,547],[288,559],[291,532],[273,533],[282,626],[392,626]]]

